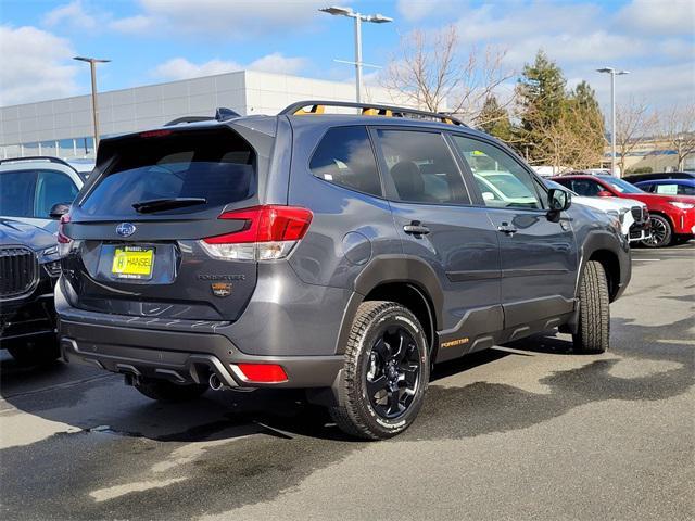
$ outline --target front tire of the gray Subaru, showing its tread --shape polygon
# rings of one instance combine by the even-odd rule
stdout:
[[[610,343],[610,297],[601,263],[589,260],[579,284],[579,325],[574,352],[605,353]]]

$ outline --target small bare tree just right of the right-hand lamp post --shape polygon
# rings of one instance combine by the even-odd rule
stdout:
[[[644,102],[630,99],[616,107],[616,160],[624,175],[628,155],[658,131],[658,115]]]

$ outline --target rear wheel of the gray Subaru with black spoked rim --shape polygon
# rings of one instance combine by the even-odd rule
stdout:
[[[393,302],[363,303],[344,357],[342,405],[329,408],[338,427],[364,440],[386,440],[410,427],[430,377],[429,348],[415,315]]]

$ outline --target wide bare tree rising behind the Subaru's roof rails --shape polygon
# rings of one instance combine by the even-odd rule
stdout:
[[[427,34],[409,33],[386,69],[381,85],[399,99],[431,112],[459,114],[473,120],[484,101],[514,73],[505,69],[505,51],[485,47],[460,52],[455,26]],[[509,100],[503,102],[508,104]],[[476,122],[480,124],[480,122]]]

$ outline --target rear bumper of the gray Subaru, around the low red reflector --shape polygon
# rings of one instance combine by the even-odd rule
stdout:
[[[146,330],[61,319],[60,334],[65,361],[176,383],[206,383],[215,373],[228,387],[330,387],[343,365],[340,355],[247,355],[229,339],[214,333]],[[288,380],[249,382],[237,367],[243,363],[279,364]]]

